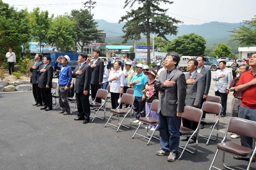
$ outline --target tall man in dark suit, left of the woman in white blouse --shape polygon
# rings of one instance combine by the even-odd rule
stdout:
[[[94,60],[91,61],[92,68],[92,80],[91,80],[91,92],[92,100],[95,99],[98,89],[101,88],[104,74],[104,62],[99,58],[100,49],[93,50]],[[101,103],[101,99],[96,99],[96,102]]]

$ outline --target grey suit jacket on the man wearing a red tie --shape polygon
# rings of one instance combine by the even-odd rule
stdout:
[[[186,73],[185,77],[186,80],[188,80],[189,73]],[[204,93],[204,76],[195,72],[191,79],[194,79],[195,82],[193,84],[187,85],[185,105],[194,107],[194,104],[197,104],[198,107],[200,107],[201,99]]]

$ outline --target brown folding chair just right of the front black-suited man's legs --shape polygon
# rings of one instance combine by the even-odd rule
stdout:
[[[105,90],[105,89],[98,89],[98,91],[96,93],[95,99],[93,100],[93,102],[90,102],[90,107],[94,108],[94,117],[92,118],[92,122],[93,122],[94,118],[105,120],[105,117],[106,117],[106,107],[105,107],[106,105],[105,105],[105,103],[106,103],[106,100],[107,100],[107,96],[108,96],[108,91],[107,90]],[[100,99],[104,99],[105,102],[103,102],[103,103],[95,102],[97,97],[100,98]],[[100,118],[100,117],[96,116],[97,113],[100,111],[100,109],[102,107],[104,107],[104,118]],[[96,112],[96,109],[98,109],[97,112]]]

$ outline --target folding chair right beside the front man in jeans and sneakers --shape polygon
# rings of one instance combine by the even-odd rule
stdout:
[[[195,151],[194,152],[186,149],[187,145],[189,144],[189,140],[186,143],[184,148],[179,146],[179,148],[183,149],[183,151],[181,152],[180,157],[178,158],[178,160],[181,159],[181,156],[183,155],[185,150],[190,152],[191,154],[195,154],[197,152],[199,125],[200,125],[202,116],[203,116],[203,111],[201,109],[198,109],[198,108],[195,108],[195,107],[191,107],[191,106],[185,106],[184,107],[184,112],[182,113],[181,117],[183,119],[187,119],[189,121],[197,122],[198,125],[197,125],[195,130],[189,129],[189,128],[184,127],[184,126],[181,126],[180,127],[180,136],[185,136],[185,137],[190,136],[189,140],[193,136],[196,136],[196,145],[195,145]],[[180,152],[180,151],[178,151],[178,152]]]

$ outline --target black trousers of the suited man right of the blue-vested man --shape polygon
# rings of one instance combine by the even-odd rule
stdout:
[[[84,118],[85,120],[90,120],[90,102],[89,93],[85,96],[83,93],[76,93],[76,103],[77,103],[77,118]]]

